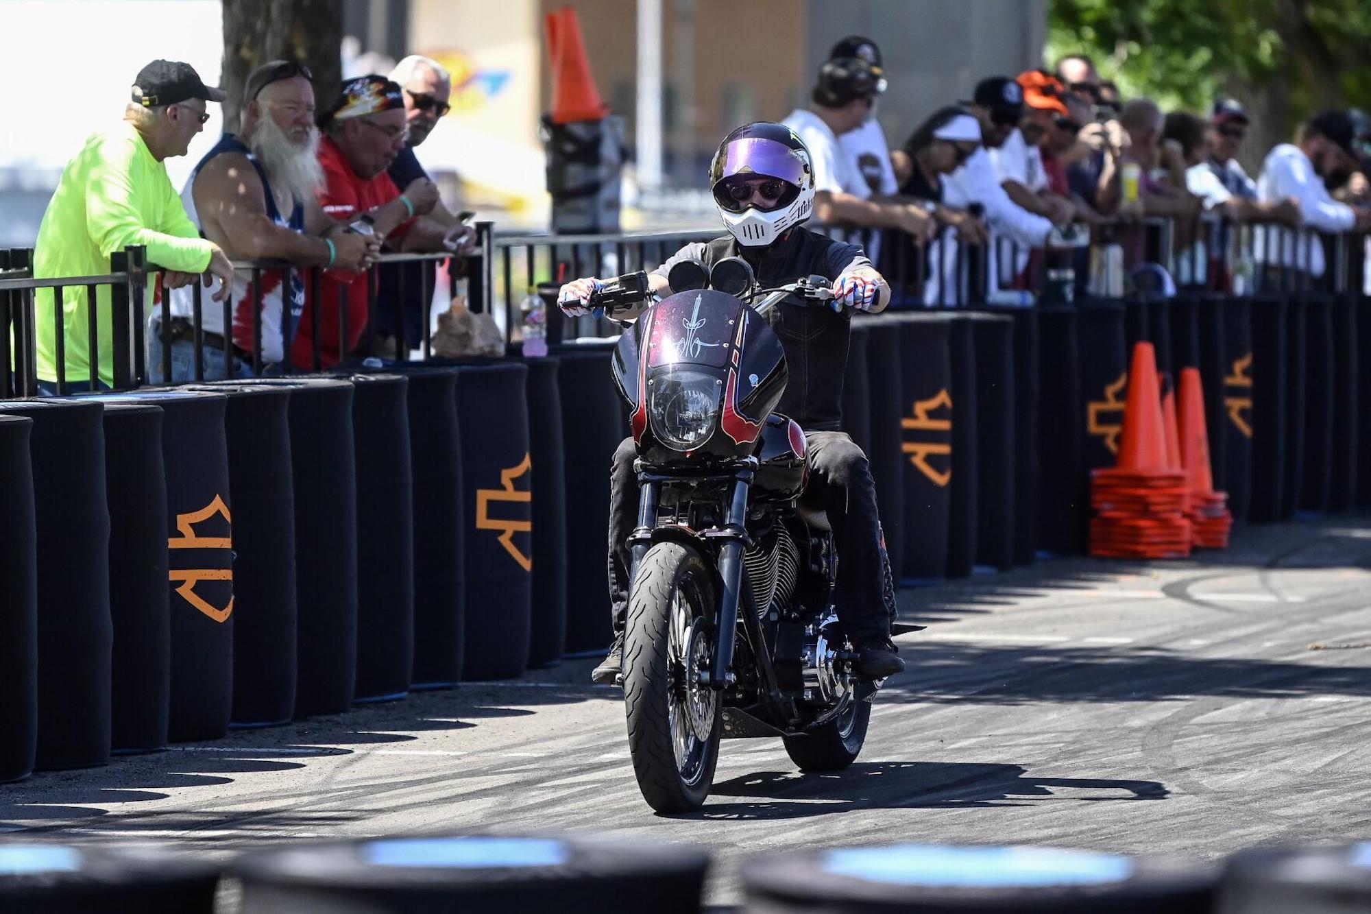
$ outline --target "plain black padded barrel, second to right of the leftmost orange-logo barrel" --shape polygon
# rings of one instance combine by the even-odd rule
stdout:
[[[341,714],[356,693],[356,453],[352,383],[258,379],[289,387],[295,486],[295,718]]]

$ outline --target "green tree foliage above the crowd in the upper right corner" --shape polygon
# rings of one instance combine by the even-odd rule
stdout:
[[[1050,0],[1046,56],[1089,54],[1124,97],[1208,113],[1235,95],[1249,151],[1322,107],[1371,107],[1367,0]]]

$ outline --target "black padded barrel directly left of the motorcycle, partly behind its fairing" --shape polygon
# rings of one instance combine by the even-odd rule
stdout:
[[[599,655],[613,641],[609,608],[609,471],[624,441],[622,398],[607,347],[565,346],[557,386],[566,487],[566,655]]]

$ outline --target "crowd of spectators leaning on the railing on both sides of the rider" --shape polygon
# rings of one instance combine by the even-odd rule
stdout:
[[[208,379],[310,368],[315,351],[332,366],[363,340],[381,354],[413,349],[428,320],[414,294],[425,281],[420,265],[380,276],[370,268],[383,251],[472,248],[469,214],[444,207],[414,155],[448,111],[451,77],[410,56],[387,75],[345,81],[322,103],[318,88],[299,63],[254,70],[239,130],[222,134],[178,195],[165,161],[186,154],[226,93],[185,63],[149,63],[123,121],[93,133],[63,172],[34,276],[103,274],[112,254],[144,246],[162,270],[155,294],[170,301],[170,320],[149,309],[158,382],[195,376],[196,320]],[[877,44],[843,38],[818,67],[809,104],[784,124],[813,161],[812,224],[860,239],[887,274],[917,273],[925,305],[1031,303],[1063,266],[1075,290],[1093,272],[1087,246],[1116,248],[1121,269],[1175,263],[1165,284],[1250,291],[1318,280],[1328,258],[1316,232],[1371,229],[1371,119],[1355,110],[1309,118],[1253,178],[1238,162],[1250,125],[1241,100],[1216,99],[1204,115],[1164,113],[1150,99],[1120,97],[1080,55],[1053,71],[987,75],[894,150],[877,118],[887,88]],[[1174,229],[1160,243],[1145,228],[1152,217]],[[233,261],[274,266],[254,274]],[[306,283],[303,268],[321,268],[319,281]],[[199,310],[197,283],[213,285]],[[45,392],[59,361],[69,387],[111,386],[110,288],[93,301],[95,316],[85,287],[66,287],[60,306],[52,290],[37,291]]]

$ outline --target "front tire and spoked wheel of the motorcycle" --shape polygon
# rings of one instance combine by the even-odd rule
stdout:
[[[714,587],[699,553],[657,543],[639,563],[624,635],[628,749],[643,799],[688,812],[709,796],[723,696],[694,681],[713,646]]]

